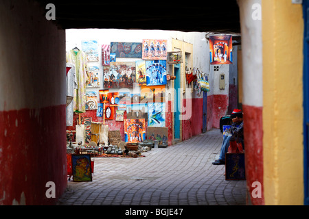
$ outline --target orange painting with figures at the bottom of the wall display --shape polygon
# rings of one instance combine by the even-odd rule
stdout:
[[[127,143],[137,143],[146,140],[145,120],[125,119],[124,120],[124,141]]]

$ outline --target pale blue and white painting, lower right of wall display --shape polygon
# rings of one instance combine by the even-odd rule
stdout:
[[[165,103],[148,103],[148,127],[165,127]]]

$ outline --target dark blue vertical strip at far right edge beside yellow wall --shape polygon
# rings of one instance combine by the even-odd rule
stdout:
[[[304,205],[309,205],[309,0],[304,10]]]

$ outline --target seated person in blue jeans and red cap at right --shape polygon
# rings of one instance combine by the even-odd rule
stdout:
[[[221,165],[225,164],[225,154],[227,153],[227,149],[229,149],[229,142],[236,141],[241,142],[242,147],[244,147],[244,128],[242,121],[242,111],[235,109],[231,114],[232,125],[227,130],[227,134],[223,135],[223,142],[221,146],[219,159],[216,159],[212,164]]]

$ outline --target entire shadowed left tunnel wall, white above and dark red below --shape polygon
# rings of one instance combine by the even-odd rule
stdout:
[[[65,31],[39,7],[0,3],[0,205],[52,205],[67,185]]]

